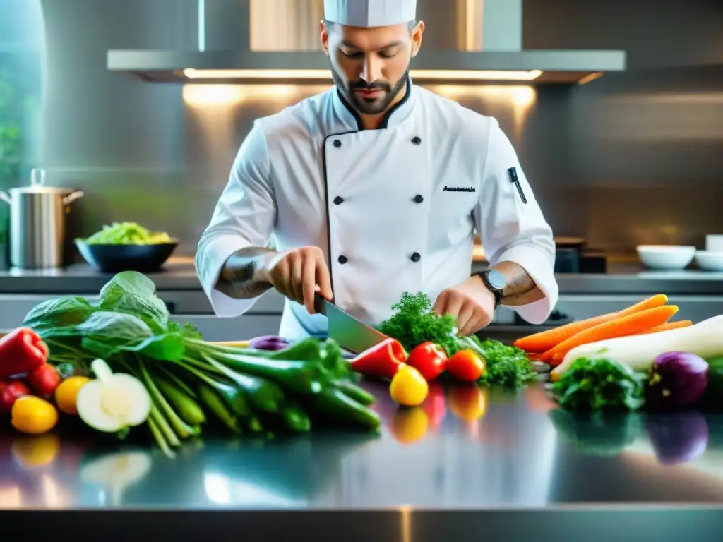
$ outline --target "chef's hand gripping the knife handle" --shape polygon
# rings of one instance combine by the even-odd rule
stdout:
[[[265,265],[264,275],[283,296],[307,307],[315,314],[314,294],[331,299],[331,277],[318,246],[302,246],[278,252]]]

